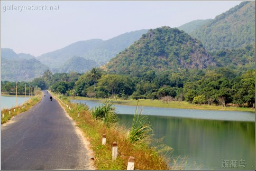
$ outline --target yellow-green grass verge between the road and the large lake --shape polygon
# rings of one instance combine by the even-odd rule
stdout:
[[[52,94],[54,95],[54,93]],[[56,97],[59,97],[60,104],[66,109],[69,116],[72,117],[90,141],[90,146],[95,153],[95,165],[98,169],[124,170],[127,168],[127,161],[130,156],[135,158],[134,169],[170,169],[167,166],[166,158],[161,156],[158,148],[152,148],[148,144],[138,145],[131,143],[127,138],[128,130],[124,127],[119,125],[108,127],[102,120],[94,119],[87,106],[79,103],[71,103],[67,97]],[[103,134],[106,135],[106,145],[102,145]],[[114,141],[118,144],[118,155],[112,161],[112,144]]]

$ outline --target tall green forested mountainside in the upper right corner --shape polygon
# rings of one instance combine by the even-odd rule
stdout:
[[[190,35],[209,51],[242,48],[255,41],[255,2],[242,2]]]

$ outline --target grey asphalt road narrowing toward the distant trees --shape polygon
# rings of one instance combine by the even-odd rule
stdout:
[[[74,122],[50,93],[1,126],[1,170],[95,169]]]

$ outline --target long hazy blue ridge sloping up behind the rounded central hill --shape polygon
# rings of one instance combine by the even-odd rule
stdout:
[[[87,60],[94,60],[99,66],[108,62],[118,52],[130,46],[136,40],[139,40],[140,36],[146,32],[147,30],[140,30],[124,33],[106,41],[100,39],[79,41],[60,50],[42,54],[37,59],[52,69],[62,67],[73,56],[82,56]]]

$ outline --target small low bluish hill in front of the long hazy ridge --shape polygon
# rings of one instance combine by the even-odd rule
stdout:
[[[69,73],[70,71],[84,73],[93,67],[96,67],[97,63],[93,60],[86,60],[81,56],[73,56],[59,69],[59,73]]]

